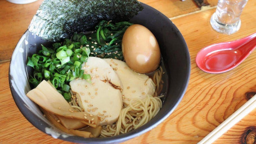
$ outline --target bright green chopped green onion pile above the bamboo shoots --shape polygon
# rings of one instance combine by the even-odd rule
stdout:
[[[29,79],[33,87],[37,87],[43,79],[50,80],[57,91],[70,101],[69,82],[75,78],[91,79],[81,70],[82,63],[87,61],[90,53],[89,48],[83,47],[88,43],[85,38],[84,35],[73,41],[65,39],[62,44],[53,43],[51,48],[42,45],[41,51],[28,57],[27,65],[34,68]]]

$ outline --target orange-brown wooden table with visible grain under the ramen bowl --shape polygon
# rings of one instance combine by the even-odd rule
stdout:
[[[249,0],[241,15],[241,29],[232,35],[215,32],[209,23],[217,0],[200,10],[192,0],[143,0],[170,17],[183,34],[191,56],[191,76],[177,109],[152,131],[124,143],[197,143],[234,113],[256,92],[256,53],[237,68],[208,74],[197,68],[197,52],[209,44],[235,40],[256,31],[256,1]],[[24,118],[12,99],[8,67],[12,51],[37,11],[39,0],[12,4],[0,0],[0,143],[69,143],[39,131]],[[250,95],[251,94],[251,95]],[[256,110],[214,143],[254,143]]]

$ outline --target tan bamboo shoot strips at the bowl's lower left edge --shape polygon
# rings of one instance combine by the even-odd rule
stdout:
[[[78,129],[85,125],[97,127],[98,125],[97,116],[92,115],[84,118],[84,115],[88,115],[88,113],[73,112],[75,110],[50,83],[46,82],[46,80],[43,80],[36,88],[29,91],[26,96],[44,110],[55,114],[67,129]],[[94,124],[87,123],[88,120],[91,119],[94,120]]]

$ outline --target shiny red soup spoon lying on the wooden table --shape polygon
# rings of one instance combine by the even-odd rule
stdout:
[[[256,33],[232,42],[212,44],[197,53],[196,64],[206,73],[224,73],[241,64],[256,48]]]

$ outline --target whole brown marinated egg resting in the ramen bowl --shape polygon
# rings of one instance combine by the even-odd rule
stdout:
[[[122,51],[127,65],[138,73],[158,69],[160,49],[154,34],[143,25],[129,26],[123,35]]]

